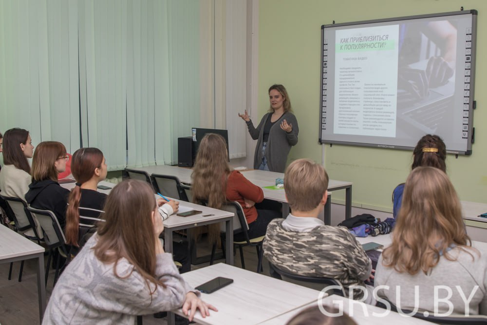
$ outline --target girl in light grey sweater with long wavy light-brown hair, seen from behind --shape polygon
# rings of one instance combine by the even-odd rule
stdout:
[[[403,310],[487,314],[487,255],[471,247],[460,201],[444,172],[411,172],[392,236],[377,263],[375,286],[389,286],[377,291],[379,297]],[[448,303],[435,296],[449,297]]]

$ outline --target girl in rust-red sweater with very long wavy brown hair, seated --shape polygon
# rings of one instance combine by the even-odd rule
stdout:
[[[265,235],[272,219],[281,216],[277,210],[256,209],[255,203],[262,202],[262,189],[252,184],[240,172],[230,170],[227,161],[226,144],[223,136],[206,134],[201,140],[191,175],[193,201],[206,200],[208,206],[220,209],[226,201],[238,201],[244,209],[250,238]],[[210,228],[210,239],[218,242],[220,226]],[[240,240],[239,234],[236,241]]]

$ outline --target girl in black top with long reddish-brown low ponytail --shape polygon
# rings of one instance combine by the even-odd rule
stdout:
[[[97,148],[76,150],[71,162],[71,172],[76,184],[68,198],[65,233],[66,243],[75,248],[71,249],[71,253],[76,253],[96,231],[96,228],[80,229],[78,209],[86,208],[83,215],[99,218],[100,212],[94,210],[102,210],[107,199],[107,194],[96,191],[98,183],[107,177],[107,164],[103,153]],[[88,219],[84,221],[88,222]]]

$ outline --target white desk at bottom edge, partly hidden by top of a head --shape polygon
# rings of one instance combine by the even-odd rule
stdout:
[[[357,324],[359,325],[431,325],[432,323],[423,321],[418,318],[404,317],[394,311],[387,311],[386,309],[367,305],[364,303],[352,301],[351,299],[340,297],[337,295],[331,295],[322,299],[322,304],[326,306],[335,306],[340,309],[343,306],[343,311],[347,313]],[[268,321],[260,323],[262,325],[283,325],[286,324],[294,315],[298,314],[301,310],[311,306],[318,306],[317,302],[313,302],[307,306],[300,307],[293,311],[282,314],[278,317],[272,318]],[[382,317],[378,317],[383,315]]]

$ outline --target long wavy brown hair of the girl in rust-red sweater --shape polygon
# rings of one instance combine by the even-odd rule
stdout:
[[[193,203],[206,201],[211,208],[220,209],[226,202],[226,182],[230,174],[226,143],[220,134],[209,133],[201,140],[191,174]],[[201,229],[193,230],[197,236]],[[220,226],[208,225],[210,242],[219,243]]]

